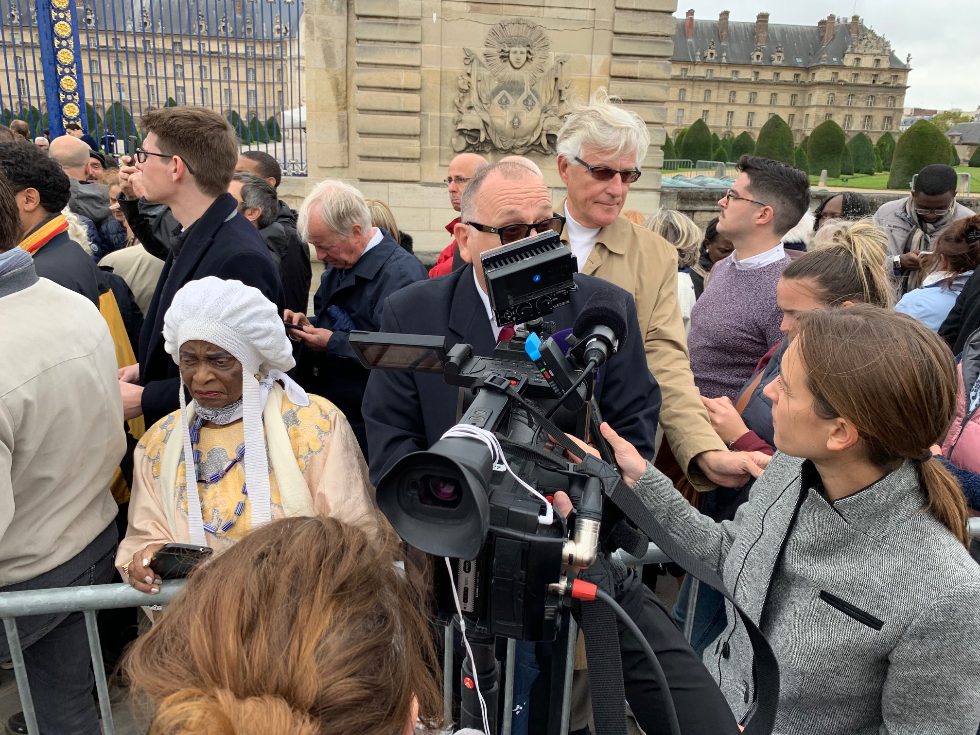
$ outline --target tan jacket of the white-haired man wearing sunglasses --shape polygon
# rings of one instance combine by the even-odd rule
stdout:
[[[562,240],[567,243],[567,230]],[[677,300],[677,251],[673,245],[620,215],[599,232],[599,240],[580,270],[633,294],[640,328],[646,334],[647,365],[661,385],[663,434],[677,463],[688,469],[695,455],[725,450],[694,385]],[[697,466],[690,469],[689,479],[699,490],[713,487]]]

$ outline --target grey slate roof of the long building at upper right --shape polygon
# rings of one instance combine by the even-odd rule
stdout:
[[[861,24],[863,32],[867,28]],[[695,54],[701,52],[701,63],[717,64],[721,62],[721,52],[726,52],[727,64],[753,64],[760,67],[807,69],[821,65],[844,66],[844,53],[853,38],[850,23],[838,23],[830,43],[823,45],[823,34],[816,25],[778,25],[769,24],[765,37],[765,47],[762,49],[762,60],[752,61],[752,53],[756,50],[755,22],[728,22],[728,43],[721,43],[718,35],[718,22],[694,21],[694,38],[688,40],[684,30],[684,19],[677,19],[677,30],[674,33],[674,53],[671,61],[688,61],[694,63]],[[705,59],[705,51],[714,41],[717,54],[713,61]],[[783,62],[776,64],[772,57],[776,49],[783,47]],[[823,52],[827,52],[826,61],[822,61]],[[906,65],[893,51],[889,55],[888,67],[905,69]]]

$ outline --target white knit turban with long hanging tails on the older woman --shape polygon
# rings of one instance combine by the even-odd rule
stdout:
[[[262,426],[262,399],[256,373],[293,368],[292,347],[275,305],[263,293],[238,280],[213,275],[192,280],[173,295],[164,316],[164,348],[179,365],[180,347],[194,339],[226,350],[242,365],[242,418],[245,432],[245,477],[252,507],[252,526],[271,519],[269,463]],[[194,454],[191,449],[183,383],[180,385],[180,417],[184,434],[184,480],[191,542],[207,545],[197,492]]]

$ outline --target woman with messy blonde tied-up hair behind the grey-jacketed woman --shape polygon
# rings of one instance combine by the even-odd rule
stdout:
[[[815,249],[783,270],[776,284],[776,302],[783,311],[779,328],[786,339],[760,360],[734,403],[727,398],[702,398],[711,425],[731,450],[769,456],[775,452],[772,402],[764,391],[779,377],[786,348],[800,329],[799,315],[854,304],[892,307],[893,288],[885,263],[887,245],[888,235],[870,220],[825,222],[817,232]],[[701,512],[714,520],[731,520],[748,499],[751,485],[719,487],[706,493]],[[690,577],[681,585],[673,616],[699,653],[704,653],[726,622],[721,595]]]

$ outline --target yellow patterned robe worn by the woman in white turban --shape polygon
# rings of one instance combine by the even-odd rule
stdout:
[[[270,400],[273,400],[272,396]],[[376,525],[379,515],[374,506],[374,489],[368,481],[368,466],[347,418],[329,401],[314,395],[310,396],[309,406],[297,406],[282,394],[281,415],[296,463],[310,489],[314,513],[365,527]],[[182,459],[176,470],[176,486],[172,491],[162,487],[161,469],[168,441],[182,441],[179,411],[151,426],[133,454],[129,528],[116,557],[121,572],[123,565],[132,561],[133,554],[150,544],[190,542]],[[217,428],[202,428],[197,445],[202,455],[201,473],[211,475],[224,469],[243,443],[241,421]],[[216,483],[198,482],[205,522],[217,521],[221,527],[234,517],[235,507],[243,497],[244,479],[245,470],[239,462]],[[269,484],[272,517],[281,518],[285,513],[271,462]],[[170,515],[175,519],[177,538],[172,538],[165,503],[173,506]],[[205,537],[208,546],[221,554],[251,529],[251,506],[246,498],[245,509],[231,528],[217,534],[206,531]]]

